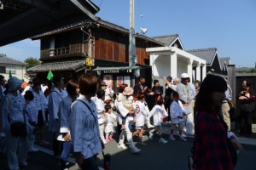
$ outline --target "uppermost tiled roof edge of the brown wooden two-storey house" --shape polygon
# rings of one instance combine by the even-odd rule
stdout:
[[[78,27],[81,27],[81,26],[84,26],[84,27],[97,26],[97,24],[99,24],[99,26],[104,26],[104,27],[107,27],[108,29],[113,29],[115,31],[121,31],[121,32],[124,32],[124,33],[127,33],[127,34],[130,33],[130,30],[123,27],[123,26],[118,26],[116,24],[108,22],[107,20],[102,20],[100,18],[97,18],[97,19],[98,20],[96,22],[91,21],[91,20],[81,20],[79,22],[73,23],[72,25],[63,26],[63,27],[55,29],[53,31],[44,32],[43,34],[31,37],[31,38],[32,39],[38,39],[40,37],[49,36],[49,35],[52,35],[52,34],[55,34],[55,33],[61,32],[61,31],[68,31],[68,30],[72,30],[72,29],[75,29],[75,28],[78,28]],[[142,34],[139,34],[139,33],[136,33],[135,37],[140,37],[140,38],[143,38],[147,41],[156,42],[156,43],[159,43],[160,45],[164,46],[164,44],[162,42],[156,41],[153,38],[146,37],[146,36],[144,36]]]

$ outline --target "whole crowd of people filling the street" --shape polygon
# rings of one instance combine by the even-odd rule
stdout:
[[[146,127],[148,139],[157,137],[160,144],[176,139],[185,142],[188,136],[195,136],[195,169],[232,169],[230,152],[223,147],[228,140],[236,150],[242,147],[230,132],[229,111],[233,98],[229,83],[212,75],[202,83],[191,82],[187,73],[180,78],[163,77],[165,87],[155,79],[153,88],[148,88],[145,77],[140,76],[134,87],[119,83],[119,91],[114,93],[92,73],[82,75],[79,81],[71,78],[66,83],[64,77],[54,76],[44,86],[34,78],[26,88],[21,88],[23,80],[10,77],[4,83],[0,75],[0,144],[5,149],[9,169],[26,166],[27,153],[38,151],[34,147],[37,131],[39,144],[49,144],[45,138],[46,125],[52,133],[52,148],[61,170],[67,168],[67,156],[71,152],[82,169],[98,169],[96,155],[108,147],[117,134],[119,149],[127,149],[127,140],[131,153],[139,153],[141,150],[134,140],[145,144]],[[241,101],[240,135],[252,134],[250,113],[254,97],[250,83],[245,80],[237,98]],[[25,135],[14,133],[15,122],[26,123]],[[164,122],[172,125],[168,139],[162,135]],[[228,159],[219,161],[219,156]]]

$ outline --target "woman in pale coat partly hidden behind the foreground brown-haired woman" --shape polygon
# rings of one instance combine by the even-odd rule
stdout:
[[[78,82],[73,79],[67,82],[67,97],[61,100],[61,104],[59,106],[58,111],[58,128],[57,128],[57,140],[62,143],[62,150],[60,156],[61,170],[67,168],[67,156],[72,147],[72,140],[70,135],[70,127],[68,124],[70,107],[78,98],[79,90],[78,90]]]

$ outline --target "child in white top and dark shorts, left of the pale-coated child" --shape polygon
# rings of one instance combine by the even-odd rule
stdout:
[[[154,132],[158,132],[159,136],[159,143],[160,144],[166,144],[166,139],[162,138],[162,122],[163,119],[168,116],[165,105],[164,105],[164,99],[159,95],[156,98],[156,104],[152,108],[152,110],[149,112],[149,117],[153,116],[153,122],[154,122],[154,129],[149,131],[149,139],[153,139]]]

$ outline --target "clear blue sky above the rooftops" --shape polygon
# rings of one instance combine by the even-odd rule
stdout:
[[[97,16],[129,28],[129,0],[92,0]],[[236,67],[256,62],[255,0],[135,0],[136,31],[146,36],[178,34],[187,49],[218,48],[219,57],[230,57]],[[0,47],[0,54],[24,60],[40,57],[40,42],[26,39]]]

